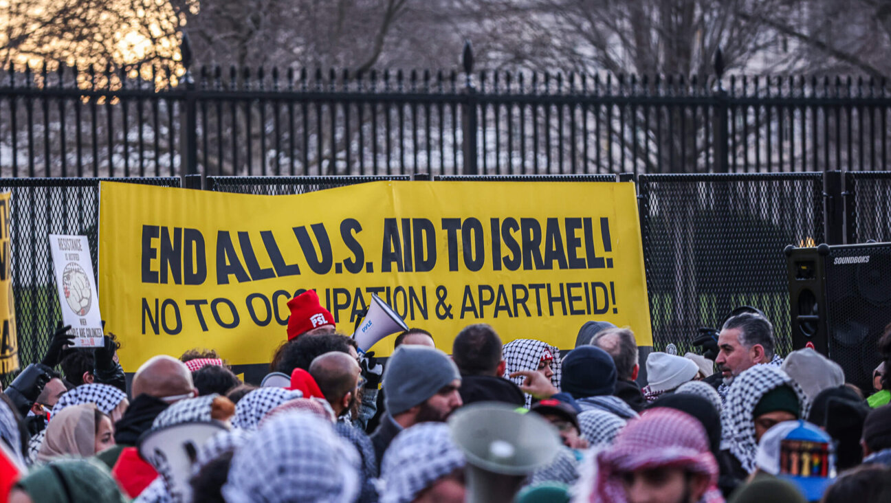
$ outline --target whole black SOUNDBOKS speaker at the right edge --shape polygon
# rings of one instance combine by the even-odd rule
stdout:
[[[891,243],[785,251],[792,349],[813,345],[871,393],[876,343],[891,323]]]

